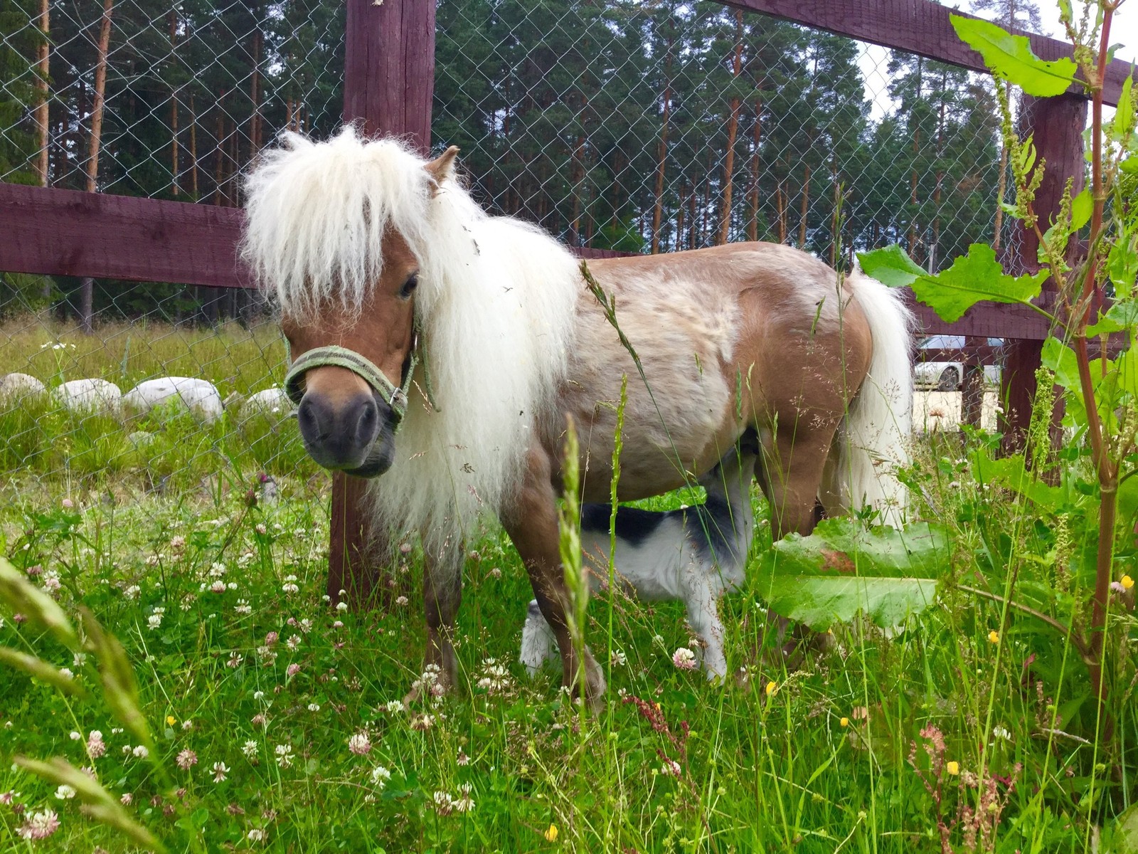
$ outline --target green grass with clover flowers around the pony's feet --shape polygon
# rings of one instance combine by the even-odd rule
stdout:
[[[951,557],[937,605],[892,640],[861,623],[836,626],[828,649],[789,667],[752,584],[723,602],[735,676],[709,684],[671,664],[692,643],[682,605],[617,598],[609,637],[601,596],[588,606],[588,641],[602,663],[622,663],[609,665],[601,711],[584,714],[559,674],[531,681],[517,664],[530,591],[492,527],[469,545],[461,690],[390,711],[422,662],[419,552],[382,569],[381,607],[330,608],[328,482],[291,421],[275,434],[263,425],[259,441],[274,450],[258,459],[257,437],[228,420],[201,429],[189,416],[157,419],[156,444],[140,452],[114,419],[76,424],[34,409],[0,418],[0,453],[16,463],[0,552],[20,570],[39,567],[28,577],[41,588],[58,581],[65,611],[89,607],[123,642],[154,758],[178,788],[129,755],[137,740],[99,699],[93,662],[0,611],[0,644],[72,668],[97,698],[0,671],[0,794],[19,793],[0,803],[0,851],[137,849],[77,799],[15,770],[17,755],[92,767],[172,851],[197,838],[211,852],[306,854],[1090,852],[1110,849],[1116,816],[1138,797],[1133,613],[1119,598],[1107,644],[1115,731],[1096,739],[1087,671],[1062,635],[957,586],[1011,584],[1061,622],[1085,621],[1064,610],[1081,601],[1082,545],[1022,499],[978,484],[967,447],[925,444],[909,475],[917,514],[946,525]],[[271,465],[281,500],[249,507],[246,490]],[[769,541],[760,524],[752,561]],[[1138,574],[1132,566],[1122,549],[1120,573]],[[209,590],[218,581],[225,590]],[[1065,592],[1048,605],[1037,589]],[[498,666],[504,676],[490,671]],[[92,730],[107,745],[96,758],[84,748]],[[365,754],[349,749],[358,733]],[[218,782],[215,763],[228,769]],[[378,767],[390,778],[373,777]],[[464,795],[472,805],[455,808]],[[51,837],[17,836],[49,807],[60,821]]]

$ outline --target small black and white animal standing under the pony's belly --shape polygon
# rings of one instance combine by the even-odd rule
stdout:
[[[724,629],[719,597],[743,584],[747,553],[754,533],[751,478],[758,442],[744,435],[737,449],[700,478],[707,502],[666,512],[617,508],[616,572],[630,591],[645,601],[682,600],[687,622],[702,643],[708,679],[725,676]],[[589,589],[597,591],[609,577],[611,504],[584,504],[580,545]],[[700,650],[696,650],[700,656]],[[553,630],[529,602],[521,633],[521,663],[530,675],[553,657]]]

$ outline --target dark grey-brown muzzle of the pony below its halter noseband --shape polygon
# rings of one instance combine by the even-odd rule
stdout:
[[[384,410],[387,410],[386,412]],[[300,399],[297,425],[305,450],[318,463],[329,469],[372,476],[382,474],[379,460],[372,459],[378,450],[381,432],[388,432],[390,408],[371,389],[360,391],[346,399],[310,389]],[[385,454],[386,455],[386,454]]]

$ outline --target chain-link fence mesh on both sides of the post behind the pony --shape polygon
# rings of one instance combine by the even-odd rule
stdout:
[[[336,3],[0,8],[2,181],[237,206],[279,130],[339,121]],[[940,268],[997,228],[982,76],[712,2],[439,0],[437,22],[434,142],[490,211],[572,245],[766,239],[842,266],[900,243]],[[0,490],[312,475],[271,391],[283,359],[249,291],[0,274]],[[130,393],[160,377],[215,393]],[[94,379],[126,401],[65,385]]]

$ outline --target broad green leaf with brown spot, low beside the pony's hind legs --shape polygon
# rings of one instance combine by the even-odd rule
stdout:
[[[776,613],[811,629],[858,611],[892,626],[932,603],[947,561],[947,536],[931,525],[866,529],[848,518],[824,519],[810,536],[774,544],[760,563],[758,589]]]

